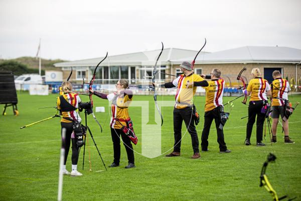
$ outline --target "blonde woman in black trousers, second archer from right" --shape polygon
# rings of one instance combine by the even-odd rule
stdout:
[[[262,143],[263,123],[265,120],[265,113],[261,112],[262,107],[267,104],[267,95],[271,95],[271,88],[266,79],[261,77],[259,68],[253,68],[251,71],[253,79],[250,80],[248,87],[244,90],[246,95],[250,95],[249,109],[248,109],[248,123],[247,123],[247,135],[245,145],[251,145],[250,138],[252,134],[253,125],[256,120],[256,145],[265,146]]]

